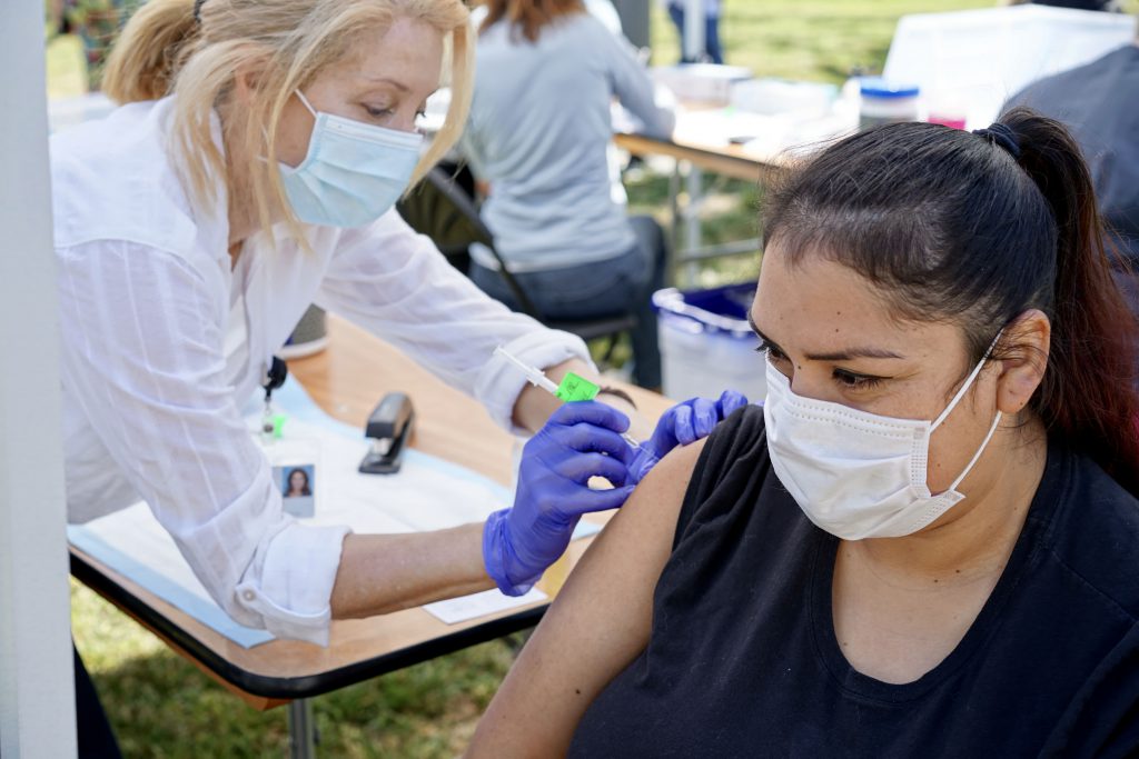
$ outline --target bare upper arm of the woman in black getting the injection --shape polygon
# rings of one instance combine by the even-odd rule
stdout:
[[[564,754],[589,704],[645,649],[703,446],[665,456],[593,542],[494,696],[470,756]]]

